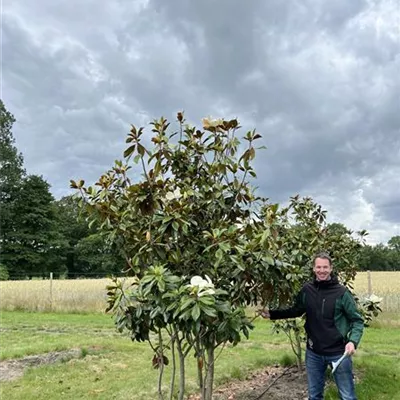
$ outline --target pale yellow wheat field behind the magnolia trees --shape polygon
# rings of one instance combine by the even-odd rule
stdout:
[[[382,298],[384,311],[400,312],[400,272],[370,274],[370,279],[367,272],[357,274],[356,293],[361,297],[375,294]],[[2,281],[0,309],[102,312],[106,308],[106,286],[110,283],[109,279]]]

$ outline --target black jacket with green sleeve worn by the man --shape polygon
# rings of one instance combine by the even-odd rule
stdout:
[[[317,354],[337,355],[348,342],[357,348],[364,330],[364,320],[350,291],[336,276],[328,281],[306,283],[293,307],[270,310],[271,320],[295,318],[306,314],[304,325],[307,347]]]

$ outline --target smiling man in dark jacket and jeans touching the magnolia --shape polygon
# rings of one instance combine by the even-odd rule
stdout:
[[[351,356],[361,340],[364,321],[350,291],[332,273],[332,260],[319,253],[313,260],[315,277],[298,293],[288,309],[263,310],[271,320],[306,315],[306,369],[309,400],[322,400],[325,371],[344,352],[348,353],[334,373],[341,400],[357,400],[354,392]]]

